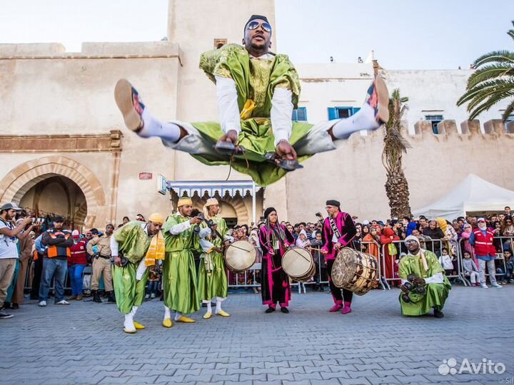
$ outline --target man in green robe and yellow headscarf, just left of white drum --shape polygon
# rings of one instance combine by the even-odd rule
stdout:
[[[215,314],[222,317],[229,317],[230,314],[221,309],[221,302],[228,294],[228,278],[226,274],[225,261],[223,259],[223,247],[233,241],[230,230],[225,220],[218,216],[220,207],[216,198],[209,198],[203,206],[203,216],[208,224],[202,222],[201,237],[201,262],[198,270],[198,294],[204,304],[207,304],[207,312],[203,319],[213,316],[211,301],[216,297]]]

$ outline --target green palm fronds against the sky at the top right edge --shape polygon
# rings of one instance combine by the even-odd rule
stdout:
[[[514,21],[512,21],[514,26]],[[507,32],[514,39],[514,29]],[[457,101],[457,106],[468,104],[469,119],[474,119],[483,111],[503,99],[514,96],[514,52],[493,51],[486,53],[472,64],[475,73],[468,79],[466,92]],[[502,119],[505,122],[514,111],[514,99],[510,101]]]

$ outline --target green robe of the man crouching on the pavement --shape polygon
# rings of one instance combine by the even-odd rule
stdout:
[[[428,278],[440,272],[443,273],[443,283],[429,283],[425,285],[426,294],[409,293],[410,302],[404,302],[402,299],[403,292],[400,293],[400,304],[403,315],[419,316],[430,312],[430,309],[436,307],[438,310],[443,309],[451,285],[448,278],[444,275],[443,267],[441,267],[438,258],[433,252],[423,250],[427,261],[428,270],[423,268],[421,255],[405,255],[398,265],[398,276],[401,279],[407,279],[409,274],[415,274],[416,277]]]

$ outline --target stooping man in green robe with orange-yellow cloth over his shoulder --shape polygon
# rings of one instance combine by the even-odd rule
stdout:
[[[164,259],[163,222],[163,215],[154,212],[148,218],[148,223],[129,222],[111,237],[114,294],[119,311],[125,314],[126,333],[144,329],[133,317],[143,303],[148,267],[155,265],[156,260]]]

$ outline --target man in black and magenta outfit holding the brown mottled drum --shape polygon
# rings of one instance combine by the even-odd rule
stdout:
[[[337,200],[327,200],[326,210],[328,217],[323,221],[322,230],[323,241],[325,243],[323,247],[321,247],[321,252],[326,258],[328,283],[330,284],[334,302],[334,306],[330,309],[330,312],[338,312],[338,310],[341,310],[343,314],[348,314],[351,312],[353,293],[350,290],[336,287],[332,282],[331,272],[333,262],[336,260],[339,250],[350,244],[357,233],[357,229],[351,215],[347,212],[341,212],[341,203]]]

